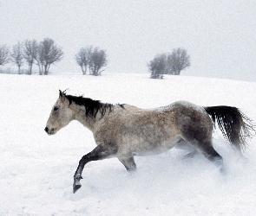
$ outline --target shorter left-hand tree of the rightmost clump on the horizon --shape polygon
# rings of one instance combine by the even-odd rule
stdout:
[[[149,72],[152,79],[162,79],[167,69],[167,54],[157,54],[148,63]]]

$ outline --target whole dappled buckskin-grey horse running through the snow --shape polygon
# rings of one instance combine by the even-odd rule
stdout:
[[[100,100],[59,91],[45,131],[54,135],[77,120],[92,131],[96,147],[82,156],[74,175],[73,193],[82,187],[82,170],[88,162],[117,157],[128,171],[135,171],[134,156],[160,154],[179,143],[192,146],[224,172],[223,159],[213,149],[213,130],[218,124],[223,137],[240,152],[254,125],[232,106],[200,106],[187,101],[141,109],[133,105],[108,104]]]

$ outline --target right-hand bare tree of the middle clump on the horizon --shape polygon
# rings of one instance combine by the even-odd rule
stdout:
[[[94,76],[101,75],[102,67],[107,66],[107,54],[105,50],[94,48],[89,58],[89,73]]]

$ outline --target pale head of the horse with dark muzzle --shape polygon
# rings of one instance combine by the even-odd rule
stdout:
[[[50,112],[49,119],[44,129],[49,135],[56,134],[58,130],[61,130],[73,120],[73,111],[69,106],[69,99],[66,98],[65,93],[60,91],[59,98]]]

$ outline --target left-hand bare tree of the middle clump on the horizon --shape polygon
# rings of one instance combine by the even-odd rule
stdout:
[[[81,67],[82,74],[86,74],[87,67],[89,66],[89,60],[92,54],[92,46],[81,48],[77,54],[75,54],[76,63]]]

